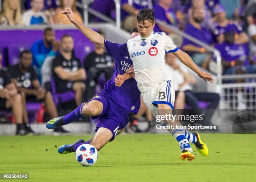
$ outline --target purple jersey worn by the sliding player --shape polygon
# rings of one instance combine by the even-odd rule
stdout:
[[[137,82],[131,78],[126,80],[121,87],[115,86],[115,77],[123,75],[126,70],[133,65],[129,59],[127,44],[117,44],[105,40],[106,51],[114,58],[115,67],[113,76],[106,82],[101,93],[109,96],[120,107],[123,107],[127,112],[137,114],[140,108],[140,91],[137,87]]]

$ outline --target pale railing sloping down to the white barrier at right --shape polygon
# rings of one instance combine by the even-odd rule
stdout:
[[[215,91],[220,94],[220,109],[252,109],[256,111],[256,74],[242,74],[242,75],[222,75],[222,64],[220,52],[213,47],[197,40],[195,37],[188,35],[172,25],[167,25],[161,20],[156,22],[178,35],[187,38],[188,40],[205,47],[205,49],[212,52],[216,57],[216,62],[211,60],[210,71],[217,76],[215,84],[207,83],[207,91]],[[246,82],[236,83],[236,80],[243,79]],[[227,80],[229,80],[227,82]],[[217,82],[216,82],[217,81]]]

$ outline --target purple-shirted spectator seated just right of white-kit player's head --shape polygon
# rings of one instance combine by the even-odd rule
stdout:
[[[172,0],[159,0],[159,4],[155,5],[155,18],[165,22],[168,25],[178,27],[178,19],[175,12],[171,8]],[[182,45],[182,37],[175,34],[172,30],[156,24],[154,27],[155,32],[165,32],[166,35],[172,38],[173,42],[180,47]]]

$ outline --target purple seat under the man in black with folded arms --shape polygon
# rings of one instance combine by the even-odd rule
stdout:
[[[75,97],[75,92],[73,91],[57,93],[53,77],[51,77],[51,93],[56,105],[59,105],[59,102],[63,103],[63,102],[69,102],[71,100],[74,100],[74,97]]]

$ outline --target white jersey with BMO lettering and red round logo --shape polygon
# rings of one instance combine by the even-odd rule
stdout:
[[[127,42],[128,52],[133,61],[138,89],[146,92],[166,80],[172,80],[165,66],[165,52],[176,52],[179,48],[164,32],[152,32],[149,37],[140,35]]]

